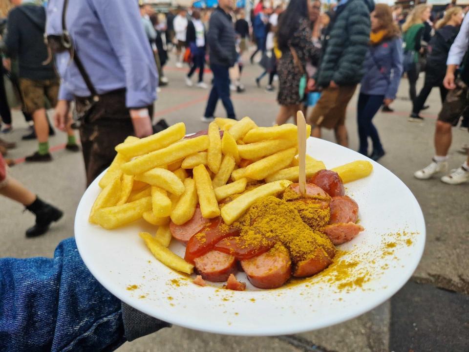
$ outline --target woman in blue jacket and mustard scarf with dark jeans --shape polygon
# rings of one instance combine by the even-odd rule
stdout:
[[[368,137],[373,143],[369,155],[373,160],[385,153],[372,119],[381,106],[389,105],[396,97],[402,75],[402,39],[399,28],[392,21],[391,8],[376,4],[371,13],[371,33],[365,56],[365,75],[358,99],[357,120],[360,137],[359,153],[368,154]]]

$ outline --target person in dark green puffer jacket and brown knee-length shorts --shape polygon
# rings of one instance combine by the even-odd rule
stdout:
[[[321,97],[308,116],[311,135],[321,136],[321,127],[334,129],[337,143],[347,147],[345,110],[363,77],[363,61],[370,37],[373,0],[340,0],[326,28],[322,59],[308,88],[322,88]]]

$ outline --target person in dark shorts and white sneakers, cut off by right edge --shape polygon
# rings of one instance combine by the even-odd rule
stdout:
[[[449,91],[436,121],[434,136],[435,155],[428,166],[415,172],[414,176],[418,179],[428,179],[448,169],[451,129],[469,106],[468,47],[469,16],[466,16],[448,53],[446,76],[443,80],[443,85]],[[456,73],[458,66],[460,66],[460,69]],[[466,162],[459,168],[452,170],[449,175],[441,177],[441,181],[448,184],[469,182],[469,150]]]

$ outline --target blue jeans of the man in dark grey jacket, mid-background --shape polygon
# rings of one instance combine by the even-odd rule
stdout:
[[[236,119],[235,109],[233,108],[233,103],[230,99],[229,67],[211,64],[210,68],[213,72],[213,87],[210,91],[209,101],[207,102],[204,116],[213,117],[216,103],[218,102],[218,99],[221,99],[228,118]]]

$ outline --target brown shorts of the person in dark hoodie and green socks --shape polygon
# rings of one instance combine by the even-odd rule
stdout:
[[[30,80],[20,78],[24,108],[29,113],[39,109],[54,108],[57,105],[59,87],[60,81],[58,79]]]

